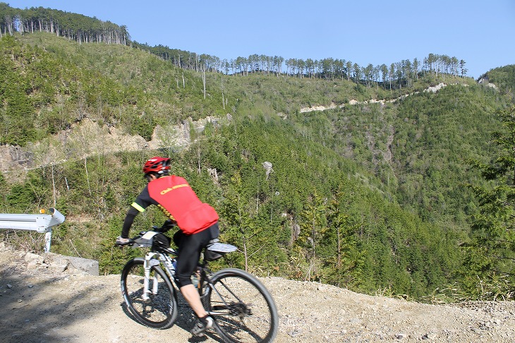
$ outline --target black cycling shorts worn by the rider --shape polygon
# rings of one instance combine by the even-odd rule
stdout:
[[[191,275],[198,265],[202,249],[209,241],[218,238],[219,233],[218,222],[216,222],[196,234],[184,234],[181,230],[174,234],[174,243],[178,247],[176,266],[178,287],[191,284]]]

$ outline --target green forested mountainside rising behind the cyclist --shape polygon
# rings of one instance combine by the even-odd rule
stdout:
[[[95,18],[0,8],[0,148],[27,157],[2,170],[0,211],[63,212],[52,251],[120,272],[141,253],[113,246],[141,165],[167,155],[238,246],[223,265],[428,302],[513,296],[513,66],[482,77],[497,88],[436,55],[395,76],[341,60],[284,72],[265,56],[220,71],[130,42],[123,26],[104,28],[125,42]],[[125,149],[104,140],[115,133]],[[163,219],[149,210],[133,234]]]

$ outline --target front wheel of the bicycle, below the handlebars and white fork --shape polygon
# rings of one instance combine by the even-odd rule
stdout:
[[[133,258],[126,263],[121,272],[121,291],[129,311],[141,324],[154,329],[168,329],[177,318],[177,298],[174,286],[159,265],[150,270],[150,287],[152,290],[157,280],[157,293],[149,294],[144,300],[143,280],[145,259]],[[154,279],[155,277],[155,279]]]

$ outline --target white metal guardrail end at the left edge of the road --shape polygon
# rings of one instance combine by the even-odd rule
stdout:
[[[44,251],[50,251],[52,241],[52,227],[62,224],[65,217],[55,208],[49,209],[49,215],[18,215],[11,213],[0,213],[0,229],[30,230],[40,234],[44,233]]]

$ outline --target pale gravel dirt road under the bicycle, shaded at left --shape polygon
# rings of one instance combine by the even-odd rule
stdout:
[[[119,275],[60,271],[0,243],[1,342],[220,342],[176,325],[153,330],[125,311]],[[263,278],[279,310],[276,342],[515,342],[515,303],[428,305],[313,282]]]

